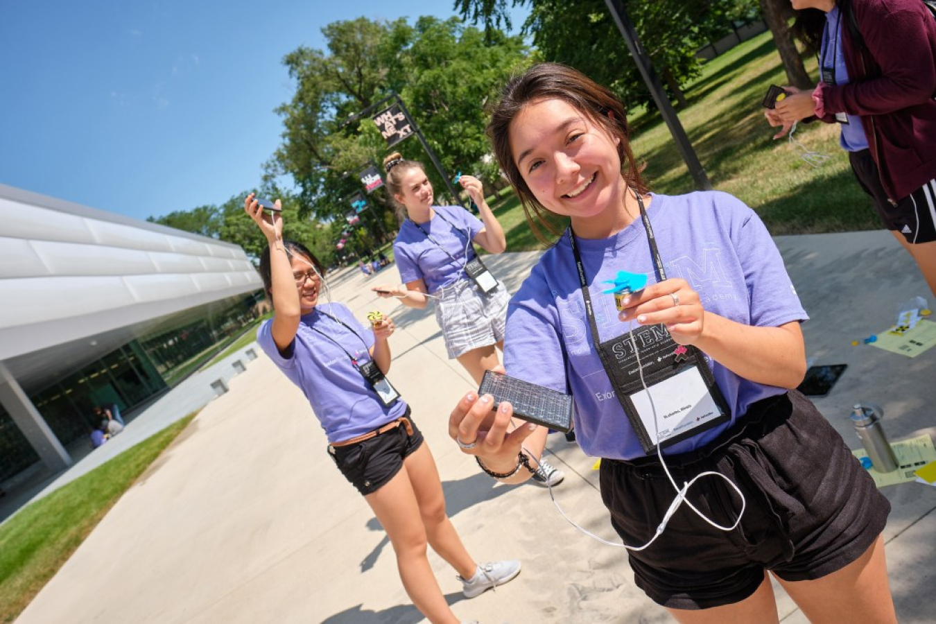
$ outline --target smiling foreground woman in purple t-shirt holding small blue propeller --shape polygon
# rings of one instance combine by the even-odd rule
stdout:
[[[777,622],[771,575],[813,622],[895,622],[890,505],[792,389],[806,316],[753,210],[724,193],[651,194],[622,103],[564,65],[510,80],[488,133],[531,222],[571,219],[511,299],[506,373],[572,395],[636,585],[693,624]],[[619,295],[618,271],[647,285]],[[493,404],[461,399],[449,435],[518,483],[547,432],[513,428],[506,401],[491,418]],[[648,429],[680,436],[661,455]]]

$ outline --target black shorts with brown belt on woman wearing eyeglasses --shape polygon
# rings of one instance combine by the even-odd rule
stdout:
[[[409,407],[403,415],[410,419],[413,435],[408,435],[401,424],[364,442],[347,446],[329,444],[329,457],[334,459],[344,478],[357,487],[361,494],[366,496],[385,486],[400,472],[403,459],[422,444],[422,431],[410,417]]]

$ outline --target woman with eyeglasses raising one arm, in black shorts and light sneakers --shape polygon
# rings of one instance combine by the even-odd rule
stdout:
[[[363,327],[344,304],[320,303],[325,268],[305,246],[283,239],[282,212],[265,212],[253,194],[244,210],[268,243],[260,275],[274,312],[257,330],[260,347],[309,399],[328,436],[329,456],[387,531],[417,609],[433,623],[458,624],[432,574],[426,544],[459,573],[467,598],[514,578],[519,561],[478,565],[461,544],[429,446],[385,377],[393,320]]]

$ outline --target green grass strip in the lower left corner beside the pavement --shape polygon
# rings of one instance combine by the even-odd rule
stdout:
[[[189,414],[0,527],[0,622],[12,622],[124,492],[195,417]],[[101,600],[108,600],[101,588]],[[89,600],[92,597],[89,595]]]

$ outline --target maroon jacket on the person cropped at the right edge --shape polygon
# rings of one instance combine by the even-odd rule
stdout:
[[[892,201],[936,178],[936,20],[920,0],[850,0],[865,47],[842,12],[849,83],[820,82],[816,116],[860,115],[881,183]],[[840,3],[840,8],[842,3]]]

